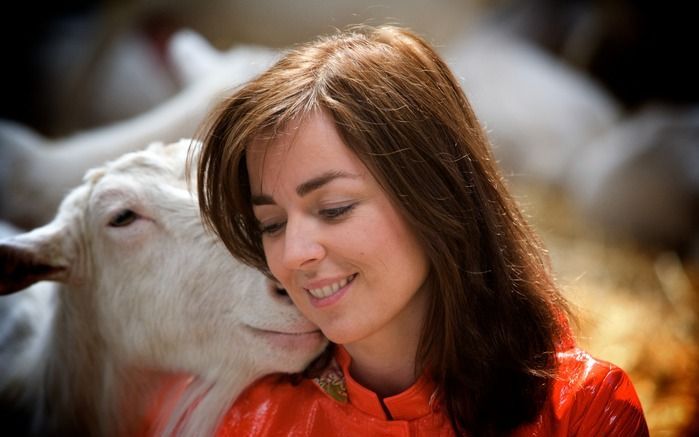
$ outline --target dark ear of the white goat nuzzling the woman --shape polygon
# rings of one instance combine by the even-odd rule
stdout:
[[[0,243],[0,296],[14,293],[44,280],[57,279],[65,266],[41,260],[26,246],[12,240]]]

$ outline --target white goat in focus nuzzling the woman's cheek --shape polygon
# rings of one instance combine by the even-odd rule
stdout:
[[[285,294],[204,230],[184,179],[189,144],[90,171],[51,223],[0,244],[0,294],[62,283],[40,347],[3,363],[0,388],[31,403],[36,433],[133,435],[163,393],[153,375],[170,372],[197,379],[158,429],[207,435],[246,385],[300,371],[324,347]]]

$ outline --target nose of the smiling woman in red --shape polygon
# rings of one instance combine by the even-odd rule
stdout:
[[[287,269],[308,269],[325,256],[317,224],[312,220],[287,218],[283,263]]]

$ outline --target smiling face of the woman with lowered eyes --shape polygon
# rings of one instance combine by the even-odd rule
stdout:
[[[272,274],[333,342],[414,332],[428,261],[332,119],[315,113],[247,151]]]

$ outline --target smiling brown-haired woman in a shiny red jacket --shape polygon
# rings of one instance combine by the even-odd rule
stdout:
[[[419,36],[289,52],[213,114],[205,221],[332,342],[221,435],[646,435],[627,375],[576,349],[539,241]]]

